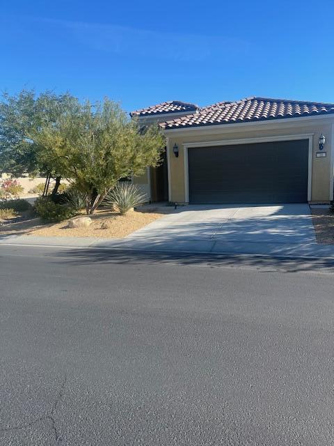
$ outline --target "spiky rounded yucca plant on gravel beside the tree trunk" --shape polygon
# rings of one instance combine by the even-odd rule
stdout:
[[[116,187],[106,195],[104,204],[113,206],[120,215],[126,214],[130,209],[145,203],[148,198],[138,186],[131,183],[118,183]]]

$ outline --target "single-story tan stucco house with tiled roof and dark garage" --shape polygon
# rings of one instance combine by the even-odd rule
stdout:
[[[334,104],[245,98],[163,102],[130,114],[159,123],[163,164],[134,178],[150,201],[330,203]]]

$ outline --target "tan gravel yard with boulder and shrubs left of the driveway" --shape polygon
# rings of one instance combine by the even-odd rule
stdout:
[[[30,236],[61,236],[61,237],[95,237],[95,238],[122,238],[154,222],[168,213],[166,210],[134,210],[127,215],[119,215],[111,210],[98,210],[90,215],[93,223],[88,228],[69,228],[68,220],[61,223],[43,224],[39,218],[30,220],[0,221],[0,236],[30,235]]]

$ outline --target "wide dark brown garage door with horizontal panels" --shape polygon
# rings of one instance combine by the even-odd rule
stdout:
[[[305,203],[308,140],[189,148],[190,203]]]

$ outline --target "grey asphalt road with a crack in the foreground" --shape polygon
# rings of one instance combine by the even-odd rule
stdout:
[[[333,279],[0,247],[0,445],[333,445]]]

